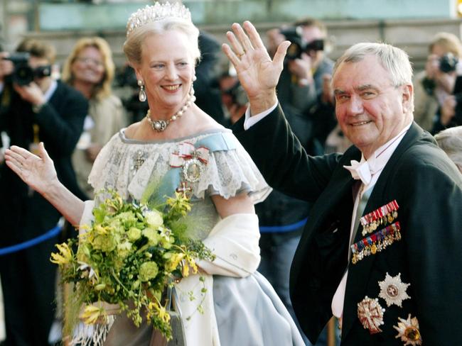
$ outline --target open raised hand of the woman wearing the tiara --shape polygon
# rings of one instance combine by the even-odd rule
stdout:
[[[51,184],[58,181],[53,160],[48,156],[43,143],[38,145],[37,155],[16,145],[5,150],[6,165],[40,194],[45,194]]]

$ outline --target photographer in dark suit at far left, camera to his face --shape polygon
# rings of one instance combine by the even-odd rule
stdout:
[[[0,56],[0,131],[9,136],[11,145],[35,150],[43,142],[58,177],[80,194],[70,157],[87,114],[85,97],[50,77],[55,50],[46,43],[23,40],[16,53]],[[60,213],[6,165],[0,169],[0,247],[21,244],[55,228]],[[56,274],[49,258],[58,237],[0,257],[4,345],[48,345]]]

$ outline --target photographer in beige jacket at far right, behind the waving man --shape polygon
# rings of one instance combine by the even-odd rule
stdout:
[[[453,94],[461,65],[462,43],[451,33],[437,33],[429,45],[425,70],[414,77],[414,120],[424,130],[435,133],[444,128],[447,113],[441,113],[448,96]],[[446,108],[448,108],[446,105]]]

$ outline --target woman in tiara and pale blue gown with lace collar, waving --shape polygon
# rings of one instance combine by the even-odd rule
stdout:
[[[96,190],[116,189],[124,199],[139,200],[152,186],[160,191],[151,194],[151,201],[189,190],[190,217],[200,222],[190,223],[188,232],[217,258],[198,263],[208,288],[204,313],[195,313],[197,303],[188,294],[200,296],[199,276],[176,284],[186,345],[303,345],[274,290],[255,272],[259,229],[254,203],[270,188],[230,130],[194,104],[192,84],[200,52],[189,11],[168,3],[137,11],[129,18],[124,52],[136,72],[139,99],[148,102],[149,111],[109,140],[89,182]],[[199,147],[205,153],[202,160],[194,159]],[[90,221],[99,201],[80,201],[65,189],[43,145],[40,157],[12,147],[6,162],[72,224]],[[105,345],[149,345],[151,338],[156,338],[151,327],[135,328],[119,316]]]

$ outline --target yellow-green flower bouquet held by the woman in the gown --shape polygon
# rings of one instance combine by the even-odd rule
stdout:
[[[190,201],[176,193],[163,205],[149,208],[125,202],[115,191],[104,192],[108,197],[93,209],[95,220],[84,226],[78,244],[70,239],[51,254],[63,282],[73,284],[65,298],[63,333],[72,335],[80,320],[87,325],[107,323],[104,303],[109,303],[117,304],[117,313],[126,313],[136,326],[144,316],[170,340],[163,292],[176,279],[198,272],[195,259],[214,259],[203,242],[186,236],[181,220],[190,211]]]

